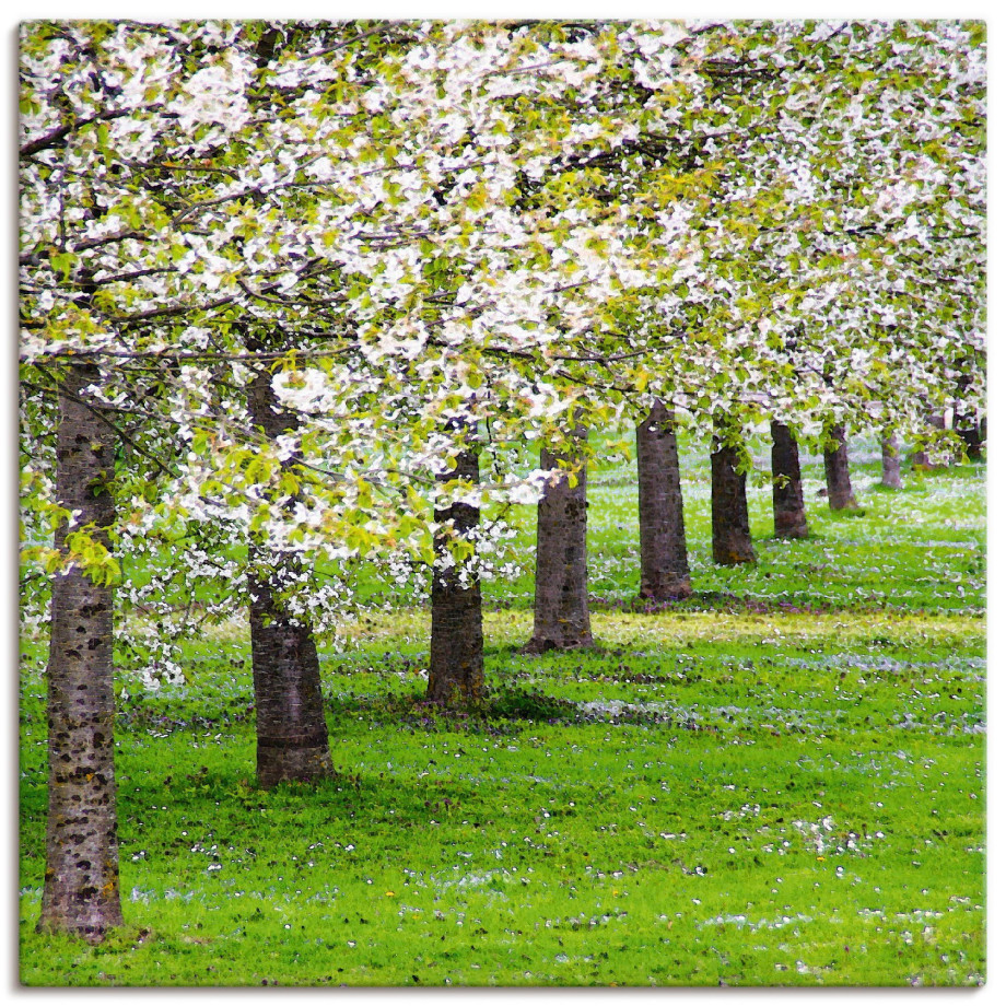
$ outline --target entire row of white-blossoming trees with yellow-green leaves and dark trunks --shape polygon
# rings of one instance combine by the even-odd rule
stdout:
[[[979,24],[33,23],[21,80],[44,928],[121,919],[117,609],[167,627],[197,582],[222,587],[200,617],[247,606],[259,780],[316,777],[334,564],[432,569],[430,698],[475,698],[515,505],[539,507],[529,646],[590,641],[588,431],[639,426],[664,597],[676,422],[715,437],[716,558],[742,561],[758,423],[795,534],[793,431],[838,493],[846,429],[980,421]]]

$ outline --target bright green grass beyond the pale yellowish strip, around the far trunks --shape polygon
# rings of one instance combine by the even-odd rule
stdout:
[[[851,445],[853,484],[865,513],[832,514],[819,457],[803,458],[804,498],[811,537],[772,538],[772,488],[768,448],[754,446],[748,479],[751,535],[759,564],[713,563],[709,457],[705,444],[682,443],[681,488],[693,586],[765,604],[967,611],[984,606],[983,465],[937,473],[904,471],[898,492],[879,484],[880,451]],[[590,589],[601,605],[627,605],[639,593],[639,518],[634,463],[601,464],[589,475],[588,561]],[[516,540],[522,575],[486,586],[490,604],[520,607],[534,599],[535,517],[525,507]]]

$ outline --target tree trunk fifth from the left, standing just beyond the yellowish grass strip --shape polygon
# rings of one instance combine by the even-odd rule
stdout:
[[[691,594],[685,505],[674,413],[653,403],[635,431],[640,493],[640,596],[675,600]]]

